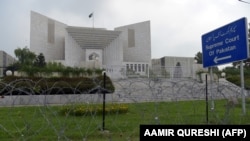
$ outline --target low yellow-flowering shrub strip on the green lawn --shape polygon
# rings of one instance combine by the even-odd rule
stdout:
[[[123,114],[128,112],[127,104],[106,104],[106,114]],[[101,115],[103,113],[103,105],[101,104],[85,104],[85,105],[66,105],[63,106],[59,113],[62,115],[71,116],[93,116]]]

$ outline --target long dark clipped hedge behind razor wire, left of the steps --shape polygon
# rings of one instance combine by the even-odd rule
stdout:
[[[97,83],[97,82],[98,83]],[[90,90],[103,86],[102,76],[95,79],[89,77],[17,77],[6,76],[0,85],[0,94],[27,95],[27,94],[85,94]],[[99,83],[101,82],[101,83]],[[106,89],[114,92],[114,86],[109,77],[106,79]],[[94,93],[94,92],[93,92]]]

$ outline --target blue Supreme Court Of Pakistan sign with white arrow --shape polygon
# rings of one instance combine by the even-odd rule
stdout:
[[[245,17],[202,35],[203,67],[212,67],[249,58]]]

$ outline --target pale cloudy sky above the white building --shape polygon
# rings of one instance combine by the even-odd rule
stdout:
[[[0,0],[0,50],[15,57],[16,48],[29,47],[31,11],[69,26],[108,30],[150,21],[152,59],[194,57],[202,52],[203,34],[250,20],[250,0]]]

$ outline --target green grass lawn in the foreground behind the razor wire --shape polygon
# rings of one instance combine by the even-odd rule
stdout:
[[[246,115],[241,104],[214,103],[208,116],[204,100],[128,103],[127,113],[106,114],[104,131],[99,114],[62,115],[62,106],[0,107],[0,137],[1,141],[139,141],[140,124],[250,124],[250,99]]]

